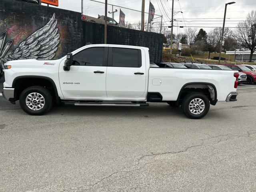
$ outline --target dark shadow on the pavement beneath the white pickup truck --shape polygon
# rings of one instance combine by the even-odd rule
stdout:
[[[187,118],[180,107],[171,107],[168,104],[152,104],[149,107],[122,107],[122,106],[58,106],[52,108],[49,115],[67,116],[98,116],[117,118]],[[47,114],[46,114],[47,115]],[[204,118],[226,118],[225,114],[211,110]]]

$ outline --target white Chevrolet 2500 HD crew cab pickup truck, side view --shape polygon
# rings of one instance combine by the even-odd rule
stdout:
[[[58,60],[4,64],[3,96],[30,115],[53,103],[76,106],[148,106],[166,102],[199,119],[210,104],[236,101],[239,74],[230,70],[150,68],[148,48],[94,44]]]

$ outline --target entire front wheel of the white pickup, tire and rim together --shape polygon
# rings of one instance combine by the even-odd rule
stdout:
[[[20,94],[20,107],[29,115],[43,115],[52,108],[52,94],[42,86],[26,88]]]

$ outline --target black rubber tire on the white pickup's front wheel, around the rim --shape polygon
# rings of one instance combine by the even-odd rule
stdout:
[[[32,110],[26,105],[26,98],[31,93],[39,93],[41,96],[44,97],[44,106],[41,109]],[[52,94],[51,94],[50,90],[48,90],[42,86],[32,86],[32,87],[26,88],[20,94],[20,107],[22,108],[22,110],[24,112],[26,112],[29,115],[46,114],[52,108],[52,104],[53,104],[53,100],[52,100]]]

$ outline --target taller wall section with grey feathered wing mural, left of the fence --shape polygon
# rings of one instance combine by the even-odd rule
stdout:
[[[0,60],[61,58],[82,46],[79,17],[77,12],[1,0]]]

